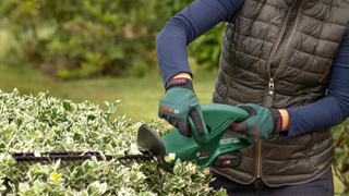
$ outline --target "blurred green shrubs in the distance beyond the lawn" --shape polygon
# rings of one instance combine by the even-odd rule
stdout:
[[[155,37],[190,0],[7,0],[0,16],[17,45],[4,61],[32,64],[63,79],[104,75],[143,76],[157,70]],[[222,26],[194,41],[191,66],[218,63]],[[194,68],[195,69],[195,68]]]

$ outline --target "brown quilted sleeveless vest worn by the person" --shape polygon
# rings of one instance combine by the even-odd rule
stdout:
[[[348,0],[245,0],[226,25],[213,102],[281,109],[323,98],[348,25]],[[240,151],[240,167],[212,170],[241,184],[261,177],[272,187],[310,182],[334,157],[329,130],[273,135]]]

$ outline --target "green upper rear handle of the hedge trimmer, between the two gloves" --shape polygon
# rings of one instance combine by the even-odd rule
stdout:
[[[194,122],[189,118],[189,127],[198,145],[206,144],[217,132],[221,132],[220,130],[226,131],[231,123],[241,122],[249,118],[249,113],[245,110],[229,105],[201,103],[201,108],[207,127],[205,135],[196,131]]]

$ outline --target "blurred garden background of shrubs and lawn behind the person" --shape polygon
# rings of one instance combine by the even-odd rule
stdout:
[[[155,38],[191,0],[0,0],[0,89],[73,102],[120,99],[116,115],[157,119],[164,95]],[[210,102],[224,23],[188,47],[201,102]],[[349,187],[349,121],[333,128],[336,193]]]

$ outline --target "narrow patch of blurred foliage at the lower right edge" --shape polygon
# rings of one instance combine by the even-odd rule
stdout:
[[[333,127],[335,143],[334,171],[344,184],[342,194],[349,193],[349,119]]]

